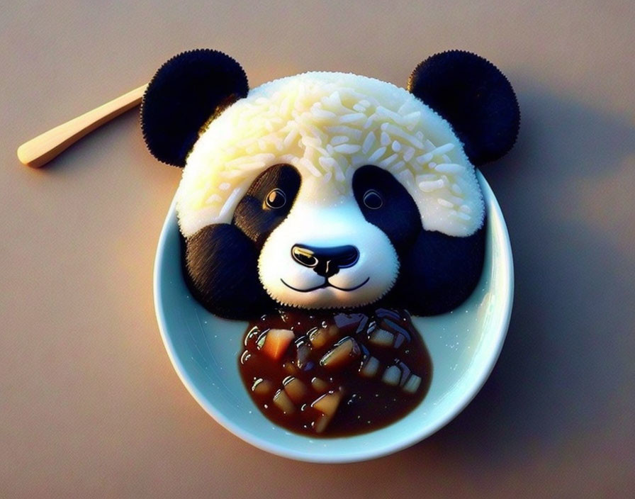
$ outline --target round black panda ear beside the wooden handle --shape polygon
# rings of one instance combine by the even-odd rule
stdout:
[[[247,96],[247,75],[216,50],[172,57],[154,74],[141,103],[141,128],[159,161],[183,167],[201,127],[215,113]]]

